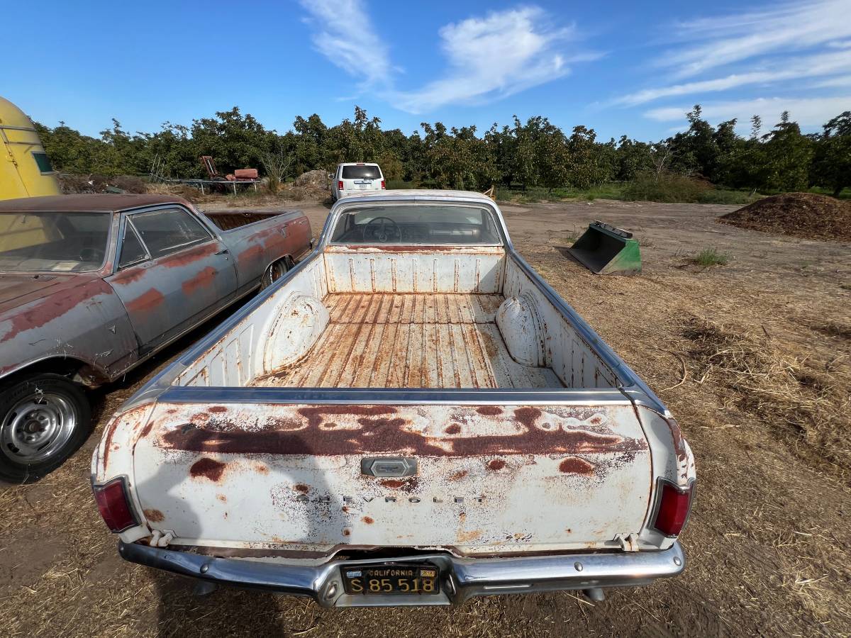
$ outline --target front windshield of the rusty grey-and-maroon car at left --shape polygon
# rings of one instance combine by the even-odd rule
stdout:
[[[0,271],[96,271],[110,222],[108,213],[0,213]]]

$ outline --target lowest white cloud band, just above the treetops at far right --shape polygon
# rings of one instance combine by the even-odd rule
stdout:
[[[703,117],[711,122],[722,122],[737,118],[740,124],[746,124],[751,116],[758,115],[766,128],[780,122],[780,113],[789,111],[792,121],[803,128],[818,128],[831,117],[842,111],[848,111],[851,95],[827,98],[758,98],[757,100],[730,100],[702,105]],[[658,122],[676,122],[684,120],[691,109],[688,106],[652,109],[644,113],[645,117]]]

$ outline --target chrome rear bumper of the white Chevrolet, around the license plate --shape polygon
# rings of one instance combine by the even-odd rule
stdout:
[[[649,584],[656,578],[677,576],[685,567],[685,557],[679,543],[660,551],[528,558],[456,558],[447,554],[431,554],[369,561],[331,560],[309,567],[286,561],[215,558],[123,542],[119,542],[118,552],[127,561],[200,578],[209,583],[311,596],[323,607],[452,605],[479,595],[626,587]],[[346,594],[340,567],[384,562],[426,562],[440,567],[440,593]]]

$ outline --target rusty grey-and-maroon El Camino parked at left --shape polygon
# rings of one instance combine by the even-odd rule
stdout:
[[[311,250],[298,211],[202,214],[180,197],[0,202],[0,480],[89,435],[86,390],[121,377]]]

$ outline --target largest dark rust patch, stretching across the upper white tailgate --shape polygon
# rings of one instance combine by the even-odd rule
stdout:
[[[553,407],[542,412],[537,407],[518,407],[513,417],[505,414],[502,419],[468,416],[462,436],[446,436],[443,426],[435,423],[443,416],[425,413],[421,407],[266,407],[263,412],[265,419],[258,419],[256,410],[248,411],[244,417],[234,409],[220,416],[205,413],[203,419],[193,417],[192,424],[175,425],[165,431],[158,444],[202,453],[311,456],[414,453],[458,457],[628,453],[647,449],[643,439],[618,436],[603,424],[591,425],[588,419],[595,413],[586,408],[572,411]],[[469,412],[476,414],[475,409]],[[494,432],[494,428],[499,431]],[[494,459],[494,463],[499,461]],[[492,464],[491,469],[499,468]]]

